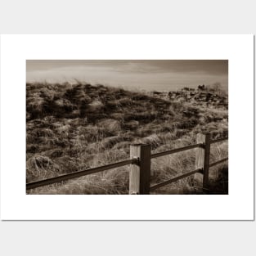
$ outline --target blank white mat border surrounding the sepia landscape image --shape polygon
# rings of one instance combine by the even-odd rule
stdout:
[[[25,195],[26,59],[228,59],[229,195]],[[253,35],[2,35],[1,218],[254,219]]]

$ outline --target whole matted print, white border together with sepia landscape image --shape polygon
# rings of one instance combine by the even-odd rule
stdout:
[[[1,37],[2,218],[253,219],[253,43]]]

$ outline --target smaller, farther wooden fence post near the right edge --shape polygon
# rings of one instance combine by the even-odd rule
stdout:
[[[198,148],[195,154],[195,169],[203,169],[203,191],[208,192],[209,186],[209,154],[210,154],[210,133],[199,133],[196,143],[204,143],[204,148]]]

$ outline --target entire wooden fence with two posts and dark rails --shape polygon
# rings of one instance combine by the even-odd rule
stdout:
[[[210,146],[213,143],[227,140],[227,137],[223,137],[217,140],[210,140],[209,133],[200,133],[197,135],[197,140],[195,145],[184,146],[181,148],[167,150],[160,153],[151,154],[151,146],[147,144],[133,144],[130,146],[130,159],[120,161],[114,164],[107,164],[97,168],[90,168],[79,172],[64,174],[58,177],[47,178],[38,182],[30,182],[26,184],[26,189],[34,189],[39,186],[46,186],[56,182],[64,182],[66,180],[73,179],[75,177],[82,177],[92,173],[99,173],[102,171],[109,170],[111,168],[117,168],[124,165],[130,164],[130,173],[129,173],[129,194],[131,195],[147,195],[150,194],[150,191],[168,185],[172,182],[177,182],[178,180],[191,176],[195,173],[203,174],[203,190],[208,191],[209,187],[209,168],[213,167],[216,164],[221,164],[224,161],[227,161],[228,158],[219,159],[217,162],[210,163]],[[195,170],[183,173],[177,177],[173,177],[165,182],[161,182],[154,186],[150,186],[150,163],[151,159],[171,155],[177,152],[197,149],[195,154]]]

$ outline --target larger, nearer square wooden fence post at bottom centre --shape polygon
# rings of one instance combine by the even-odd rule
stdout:
[[[138,164],[130,165],[129,194],[150,194],[150,154],[150,145],[133,144],[130,146],[130,158],[138,159]]]

